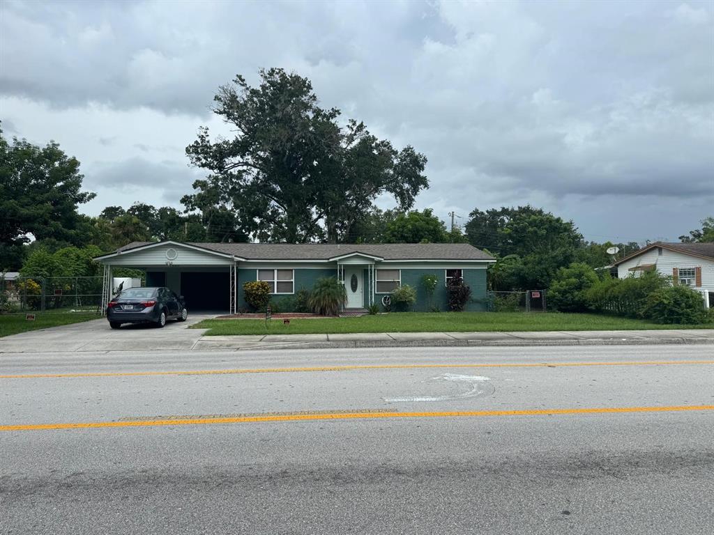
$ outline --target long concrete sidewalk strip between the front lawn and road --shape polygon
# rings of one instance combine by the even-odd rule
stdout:
[[[714,329],[519,332],[374,332],[351,335],[203,336],[193,349],[713,344]]]

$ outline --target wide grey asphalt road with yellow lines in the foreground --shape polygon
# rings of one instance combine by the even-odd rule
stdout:
[[[0,534],[714,532],[708,346],[45,352],[0,376]]]

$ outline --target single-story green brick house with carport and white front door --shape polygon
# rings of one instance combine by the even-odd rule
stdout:
[[[135,242],[95,260],[105,281],[114,267],[146,271],[147,286],[167,286],[191,310],[237,312],[247,308],[243,283],[264,280],[273,300],[310,290],[320,277],[345,282],[347,309],[381,301],[400,285],[416,288],[416,310],[427,310],[423,275],[436,275],[434,305],[447,309],[446,282],[461,276],[471,286],[468,310],[486,310],[486,268],[496,259],[464,243],[389,245]],[[104,297],[111,289],[105,282]]]

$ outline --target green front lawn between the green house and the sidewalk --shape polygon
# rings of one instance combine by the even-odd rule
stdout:
[[[207,335],[322,334],[348,332],[469,332],[469,331],[553,331],[553,330],[633,330],[696,328],[689,325],[658,325],[596,314],[560,312],[403,312],[361,317],[272,320],[204,320],[194,328]],[[700,328],[714,327],[701,325]]]

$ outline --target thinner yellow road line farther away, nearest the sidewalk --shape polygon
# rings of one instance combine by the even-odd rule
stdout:
[[[531,362],[524,364],[394,364],[363,366],[311,366],[285,368],[246,368],[236,370],[188,370],[174,372],[88,372],[88,373],[38,373],[0,375],[0,379],[45,379],[72,377],[153,377],[161,375],[230,375],[254,373],[297,372],[348,372],[352,370],[412,370],[419,368],[560,368],[578,366],[673,366],[714,365],[714,360],[645,360],[631,362]]]

